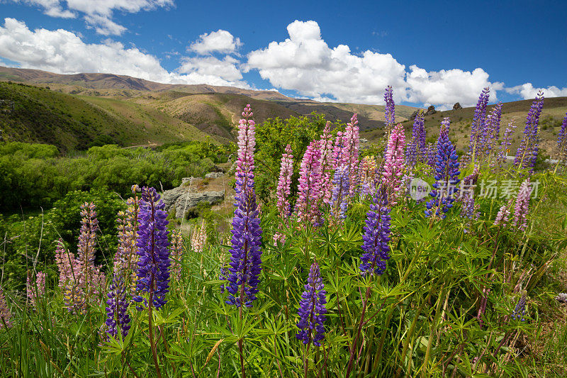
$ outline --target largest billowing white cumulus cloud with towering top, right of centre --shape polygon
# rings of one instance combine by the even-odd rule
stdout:
[[[315,21],[294,21],[287,30],[290,38],[250,52],[245,69],[258,70],[275,87],[314,99],[383,103],[387,85],[395,87],[398,101],[405,99],[405,66],[392,55],[353,55],[347,45],[330,48]]]

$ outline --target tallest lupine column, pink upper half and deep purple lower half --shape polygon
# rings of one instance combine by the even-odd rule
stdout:
[[[252,109],[242,112],[238,130],[235,216],[232,218],[232,249],[228,269],[227,304],[252,307],[262,272],[262,228],[254,191],[255,124],[249,119]]]

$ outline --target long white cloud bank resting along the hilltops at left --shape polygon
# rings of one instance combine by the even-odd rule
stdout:
[[[171,84],[249,88],[240,81],[237,61],[231,57],[216,61],[204,57],[203,62],[198,58],[188,59],[179,72],[168,72],[157,57],[137,48],[125,48],[112,40],[102,44],[84,43],[68,30],[30,30],[26,23],[14,18],[5,18],[4,26],[0,26],[0,57],[18,62],[23,68],[60,74],[100,72]]]

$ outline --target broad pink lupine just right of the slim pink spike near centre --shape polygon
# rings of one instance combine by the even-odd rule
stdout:
[[[313,140],[308,145],[301,167],[299,169],[298,199],[296,212],[298,221],[303,224],[318,224],[320,222],[319,204],[322,196],[321,166],[318,141]]]

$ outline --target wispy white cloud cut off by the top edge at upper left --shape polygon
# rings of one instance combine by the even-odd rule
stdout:
[[[174,0],[11,0],[43,8],[47,16],[75,18],[83,13],[86,24],[103,35],[120,35],[126,28],[112,21],[113,11],[137,13],[173,6]]]

